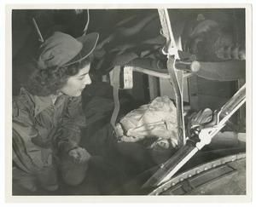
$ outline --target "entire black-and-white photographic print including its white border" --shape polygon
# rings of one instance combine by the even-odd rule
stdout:
[[[9,198],[251,195],[250,9],[9,5]]]

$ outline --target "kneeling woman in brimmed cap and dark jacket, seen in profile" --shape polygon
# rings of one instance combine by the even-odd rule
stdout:
[[[32,74],[13,100],[14,191],[55,191],[59,173],[71,186],[84,180],[90,153],[79,147],[85,125],[80,95],[91,83],[97,40],[97,33],[75,39],[55,32],[41,45]]]

